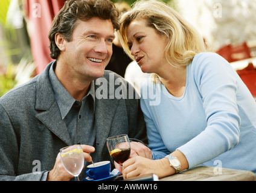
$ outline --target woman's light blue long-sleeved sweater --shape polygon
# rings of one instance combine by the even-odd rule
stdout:
[[[256,103],[219,55],[194,57],[181,97],[148,78],[141,87],[141,109],[153,159],[180,150],[190,168],[202,164],[256,173]]]

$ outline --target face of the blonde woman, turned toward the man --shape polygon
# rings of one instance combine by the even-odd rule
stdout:
[[[129,24],[127,40],[131,54],[142,72],[159,74],[168,64],[164,54],[167,37],[147,26],[146,19],[135,19]]]

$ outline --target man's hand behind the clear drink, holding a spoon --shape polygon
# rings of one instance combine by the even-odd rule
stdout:
[[[86,162],[91,162],[92,157],[90,156],[90,153],[94,152],[95,148],[89,145],[81,145],[81,147],[83,149],[83,156],[85,157]],[[47,181],[69,181],[72,177],[74,176],[69,174],[69,172],[67,172],[63,167],[59,153],[56,157],[53,169],[48,173]]]

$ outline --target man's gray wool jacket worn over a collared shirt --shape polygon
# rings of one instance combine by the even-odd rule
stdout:
[[[72,145],[48,78],[51,65],[53,62],[31,81],[0,98],[0,180],[42,180],[53,169],[60,148]],[[127,93],[135,90],[131,91],[127,82],[113,73],[105,71],[102,77],[109,87],[109,97],[95,97],[94,162],[111,160],[106,147],[109,136],[126,133],[132,140],[146,140],[139,99],[135,95],[132,99],[113,98],[121,84],[110,83],[111,75]],[[103,84],[94,83],[95,90],[102,89]]]

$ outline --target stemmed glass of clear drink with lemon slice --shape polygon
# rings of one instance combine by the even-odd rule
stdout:
[[[81,173],[85,162],[81,145],[61,148],[60,159],[66,171],[75,177],[75,181],[80,181],[78,175]]]

